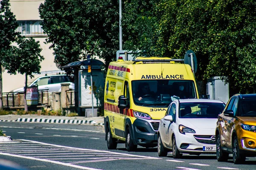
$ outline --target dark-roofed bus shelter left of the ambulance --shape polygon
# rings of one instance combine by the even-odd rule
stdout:
[[[91,72],[88,71],[88,67]],[[105,84],[104,63],[98,59],[90,59],[90,62],[88,60],[71,62],[61,69],[74,75],[75,107],[79,116],[97,116],[97,109],[103,105],[101,101],[103,101]]]

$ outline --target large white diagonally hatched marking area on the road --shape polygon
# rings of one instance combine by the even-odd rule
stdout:
[[[19,143],[9,144],[8,147],[0,147],[0,155],[15,156],[24,159],[52,162],[80,169],[96,170],[89,167],[83,167],[75,164],[85,164],[89,162],[115,161],[115,160],[140,160],[140,159],[161,159],[150,156],[139,156],[126,153],[116,153],[104,150],[91,150],[76,147],[67,147],[57,144],[48,144],[43,142],[18,139]],[[20,146],[24,144],[23,150]],[[28,148],[29,144],[34,145]],[[17,145],[17,147],[16,147]],[[40,146],[36,146],[40,145]],[[15,148],[14,148],[15,147]],[[36,149],[40,147],[40,149]]]

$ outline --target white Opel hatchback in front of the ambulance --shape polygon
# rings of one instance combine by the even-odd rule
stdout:
[[[173,101],[160,120],[157,150],[159,156],[173,158],[182,153],[200,155],[216,153],[215,127],[225,103],[210,99],[179,99]]]

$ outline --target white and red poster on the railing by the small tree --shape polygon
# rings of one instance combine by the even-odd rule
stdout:
[[[27,105],[38,105],[38,86],[27,87],[26,101]]]

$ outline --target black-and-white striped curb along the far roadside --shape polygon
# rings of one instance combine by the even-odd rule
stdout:
[[[104,123],[96,123],[94,120],[75,120],[75,119],[18,118],[17,120],[0,120],[0,122],[38,122],[38,123],[104,125]]]

